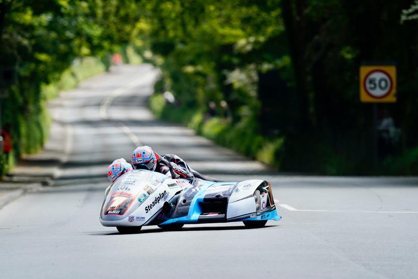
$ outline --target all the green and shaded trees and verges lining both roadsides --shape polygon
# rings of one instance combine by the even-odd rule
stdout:
[[[152,97],[158,117],[282,170],[362,174],[372,133],[358,97],[361,63],[396,62],[398,103],[378,109],[389,109],[402,130],[399,158],[418,142],[415,2],[1,1],[0,62],[18,65],[8,105],[21,119],[37,119],[42,100],[108,69],[109,53],[118,51],[126,63],[162,69],[156,92],[170,91],[176,102]],[[73,70],[88,63],[76,58],[92,56],[102,65]],[[207,119],[211,101],[218,115]],[[34,133],[42,142],[38,120],[12,122],[19,140]],[[36,149],[24,141],[18,145]],[[399,158],[387,160],[412,162]]]

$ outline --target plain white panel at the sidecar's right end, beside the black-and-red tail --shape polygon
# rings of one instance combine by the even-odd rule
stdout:
[[[256,212],[253,194],[262,183],[262,180],[246,180],[238,183],[229,198],[226,218],[230,219]]]

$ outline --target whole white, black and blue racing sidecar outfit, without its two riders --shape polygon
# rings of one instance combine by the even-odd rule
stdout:
[[[138,232],[143,225],[180,229],[184,224],[236,221],[262,227],[280,218],[266,181],[189,181],[148,170],[123,174],[106,190],[100,212],[102,225],[122,233]]]

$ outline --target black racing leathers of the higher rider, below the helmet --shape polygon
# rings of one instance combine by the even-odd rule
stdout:
[[[206,181],[218,182],[217,180],[209,179],[199,172],[189,167],[186,162],[174,154],[164,154],[160,156],[157,161],[155,171],[171,176],[173,179],[184,178],[193,179],[198,178]]]

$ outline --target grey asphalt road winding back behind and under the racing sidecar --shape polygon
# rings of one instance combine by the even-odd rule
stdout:
[[[418,277],[418,179],[274,173],[155,120],[146,97],[156,74],[121,66],[50,104],[50,141],[16,172],[49,173],[53,185],[0,210],[0,278]],[[254,230],[150,226],[137,235],[101,226],[106,167],[140,144],[225,181],[271,181],[283,219]]]

